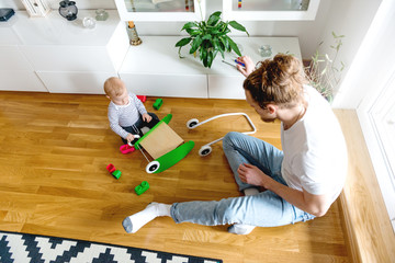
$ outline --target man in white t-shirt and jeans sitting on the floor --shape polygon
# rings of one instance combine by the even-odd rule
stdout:
[[[246,196],[172,205],[151,203],[123,221],[136,232],[158,216],[206,226],[233,224],[229,232],[276,227],[324,216],[339,196],[347,173],[347,148],[329,103],[305,84],[298,59],[276,55],[257,69],[249,57],[238,69],[247,102],[263,122],[281,121],[282,151],[258,138],[229,133],[223,148]],[[214,176],[214,174],[213,174]],[[259,188],[266,188],[259,192]]]

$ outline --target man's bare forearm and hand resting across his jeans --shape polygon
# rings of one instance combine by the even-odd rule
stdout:
[[[285,186],[264,174],[255,165],[248,163],[240,164],[237,172],[242,182],[263,186],[264,188],[278,194],[290,204],[316,217],[324,216],[330,207],[329,196],[314,195],[308,193],[306,190],[301,192]]]

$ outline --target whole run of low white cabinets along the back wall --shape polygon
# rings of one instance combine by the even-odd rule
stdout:
[[[153,96],[245,99],[245,77],[234,66],[222,62],[212,68],[199,58],[180,59],[176,43],[182,36],[140,36],[143,44],[129,46],[125,22],[116,10],[95,28],[81,25],[94,10],[80,10],[70,22],[52,12],[46,18],[30,19],[16,12],[15,22],[0,27],[0,90],[49,91],[55,93],[103,94],[103,82],[120,76],[134,93]],[[297,37],[233,37],[242,54],[263,60],[261,45],[270,45],[272,56],[290,53],[301,58]],[[236,54],[226,60],[235,64]]]

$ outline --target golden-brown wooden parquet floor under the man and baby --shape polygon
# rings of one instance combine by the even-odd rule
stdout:
[[[158,218],[127,235],[122,220],[148,203],[221,199],[240,195],[222,150],[200,157],[199,149],[227,132],[247,132],[242,116],[221,118],[194,130],[190,118],[245,112],[258,128],[253,136],[281,148],[279,123],[264,124],[245,101],[156,98],[145,102],[184,140],[195,141],[182,161],[159,174],[147,174],[139,151],[122,155],[121,139],[110,129],[104,95],[0,92],[0,229],[91,240],[173,253],[247,262],[349,262],[339,207],[325,217],[276,228],[257,228],[248,236],[227,226],[174,224]],[[116,180],[106,165],[122,172]],[[134,187],[148,181],[140,196]]]

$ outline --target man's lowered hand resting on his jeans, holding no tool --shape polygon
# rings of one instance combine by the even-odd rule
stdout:
[[[263,173],[259,168],[249,163],[241,163],[238,167],[237,172],[242,182],[263,186],[264,188],[268,188],[268,183],[271,180],[271,178]]]

